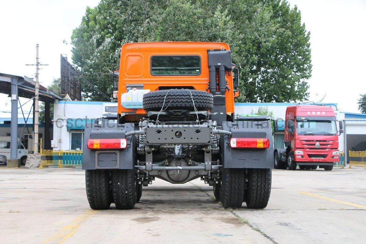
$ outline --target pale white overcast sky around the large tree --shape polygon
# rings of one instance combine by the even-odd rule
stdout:
[[[338,108],[358,113],[359,94],[366,93],[366,1],[289,0],[297,5],[302,22],[311,32],[312,77],[309,101],[338,103]],[[70,36],[81,23],[87,6],[99,0],[0,0],[0,73],[34,77],[39,44],[39,80],[48,86],[60,78],[60,54],[71,63]],[[66,40],[67,45],[63,43]],[[242,81],[244,82],[244,81]],[[0,94],[0,111],[10,112],[7,95]],[[26,101],[26,100],[22,100]],[[30,104],[30,103],[29,103]],[[29,108],[28,108],[29,109]],[[27,110],[27,109],[26,109]],[[0,112],[0,117],[10,113]]]

